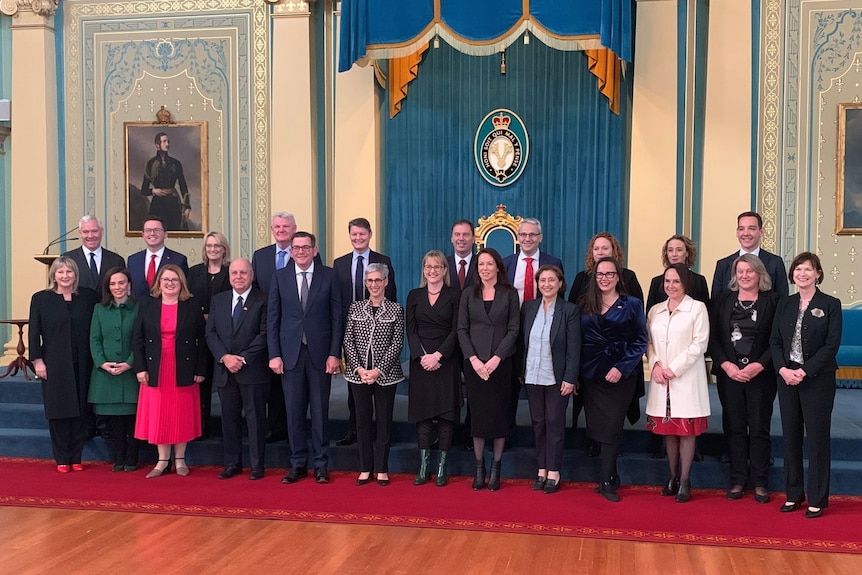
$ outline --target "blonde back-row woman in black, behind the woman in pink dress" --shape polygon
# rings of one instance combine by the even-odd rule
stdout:
[[[202,263],[189,269],[189,291],[201,308],[204,320],[210,313],[210,300],[223,291],[230,290],[228,267],[230,246],[221,232],[210,232],[204,236]],[[213,357],[207,349],[207,373],[201,382],[201,437],[209,437],[209,420],[212,412]]]

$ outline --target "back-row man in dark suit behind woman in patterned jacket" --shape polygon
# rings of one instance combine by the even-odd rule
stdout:
[[[368,297],[365,289],[365,268],[368,264],[386,264],[389,267],[389,284],[386,286],[384,295],[389,301],[396,301],[395,269],[389,256],[375,252],[369,247],[371,243],[371,222],[365,218],[355,218],[347,222],[347,232],[350,234],[350,243],[353,251],[349,254],[336,258],[332,262],[332,269],[341,286],[342,325],[347,323],[347,310],[354,301],[361,301]],[[353,445],[356,443],[356,407],[353,400],[353,388],[347,386],[347,410],[350,413],[347,435],[339,439],[336,445]]]

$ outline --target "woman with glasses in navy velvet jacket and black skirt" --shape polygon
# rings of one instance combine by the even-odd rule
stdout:
[[[595,279],[578,302],[582,341],[578,393],[583,395],[587,436],[601,446],[596,491],[612,502],[620,500],[617,455],[647,350],[643,304],[626,294],[621,275],[616,258],[599,259]]]

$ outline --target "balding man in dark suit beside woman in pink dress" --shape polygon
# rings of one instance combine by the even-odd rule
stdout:
[[[248,426],[251,474],[261,479],[266,447],[267,296],[252,287],[254,272],[244,258],[230,263],[229,292],[213,296],[207,318],[207,345],[215,358],[213,385],[221,400],[225,468],[219,479],[242,473],[242,416]]]

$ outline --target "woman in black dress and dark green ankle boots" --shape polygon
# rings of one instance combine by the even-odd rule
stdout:
[[[416,424],[419,473],[415,485],[431,478],[431,444],[440,447],[438,487],[449,482],[448,457],[461,413],[461,366],[458,364],[459,290],[449,285],[446,256],[432,250],[422,259],[419,287],[407,295],[407,343],[410,389],[407,419]]]

